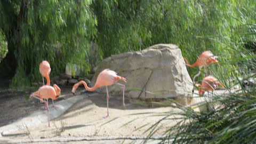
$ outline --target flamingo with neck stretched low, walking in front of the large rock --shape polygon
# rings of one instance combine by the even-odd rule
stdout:
[[[84,85],[84,87],[87,91],[94,91],[94,90],[98,89],[101,86],[106,86],[106,92],[107,92],[107,116],[106,117],[108,117],[109,116],[109,114],[108,114],[108,100],[109,100],[108,86],[109,85],[118,84],[118,85],[123,86],[123,106],[124,106],[124,109],[125,109],[125,103],[124,103],[125,85],[117,83],[117,81],[119,81],[119,80],[122,80],[126,83],[126,79],[124,77],[118,76],[115,71],[110,70],[110,69],[104,69],[98,75],[97,80],[95,82],[95,85],[93,87],[88,87],[87,84],[84,81],[80,81],[80,82],[74,84],[73,89],[72,89],[72,93],[75,94],[75,91],[76,91],[77,87],[81,84]]]

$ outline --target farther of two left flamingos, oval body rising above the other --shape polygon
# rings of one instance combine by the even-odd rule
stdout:
[[[40,71],[40,74],[43,76],[43,84],[44,84],[44,77],[45,77],[47,81],[46,85],[50,85],[50,73],[51,73],[50,63],[46,60],[42,61],[39,65],[39,71]],[[57,108],[54,105],[53,99],[52,99],[52,103],[53,103],[52,107]],[[46,109],[46,105],[44,105],[44,108]]]

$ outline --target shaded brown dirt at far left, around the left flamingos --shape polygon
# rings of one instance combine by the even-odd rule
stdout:
[[[44,110],[44,104],[37,99],[26,99],[33,92],[32,90],[28,91],[18,91],[9,89],[9,78],[0,78],[0,127],[11,124],[17,121],[20,118],[29,116],[34,113],[36,110]],[[63,100],[73,95],[69,95],[69,87],[61,87],[61,97],[54,102]],[[52,100],[49,100],[49,104],[52,103]],[[0,131],[1,132],[1,131]]]

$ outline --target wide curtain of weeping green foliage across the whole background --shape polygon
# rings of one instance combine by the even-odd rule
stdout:
[[[172,43],[191,63],[211,50],[221,63],[213,66],[214,74],[227,78],[239,72],[238,63],[249,66],[254,58],[247,50],[255,51],[255,5],[254,0],[1,1],[0,73],[23,87],[42,79],[37,66],[47,60],[51,77],[67,63],[88,76],[111,54]],[[91,43],[98,48],[90,50]],[[188,68],[190,76],[196,70]]]

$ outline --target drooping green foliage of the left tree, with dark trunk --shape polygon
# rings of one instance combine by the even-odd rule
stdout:
[[[84,71],[90,70],[87,57],[97,25],[91,2],[22,0],[0,3],[3,8],[0,9],[0,27],[17,61],[12,79],[14,86],[41,78],[39,63],[42,60],[50,62],[52,76],[63,73],[68,62],[81,66]]]

